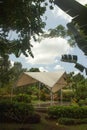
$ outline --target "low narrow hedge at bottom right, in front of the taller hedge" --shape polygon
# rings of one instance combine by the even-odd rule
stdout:
[[[87,118],[84,118],[84,119],[60,118],[58,120],[58,123],[62,125],[87,124]]]

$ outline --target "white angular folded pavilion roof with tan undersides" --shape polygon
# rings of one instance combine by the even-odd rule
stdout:
[[[24,72],[17,81],[16,86],[25,86],[35,82],[41,82],[46,85],[53,93],[63,88],[67,83],[65,81],[66,73],[58,72]]]

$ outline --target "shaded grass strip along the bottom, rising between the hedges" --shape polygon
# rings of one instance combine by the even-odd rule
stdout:
[[[45,119],[46,114],[40,113],[41,122],[38,124],[0,124],[0,130],[87,130],[85,125],[63,126],[59,125],[56,120]]]

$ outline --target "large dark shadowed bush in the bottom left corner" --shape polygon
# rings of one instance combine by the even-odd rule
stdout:
[[[40,117],[35,115],[31,104],[0,102],[0,122],[37,123],[39,121]]]

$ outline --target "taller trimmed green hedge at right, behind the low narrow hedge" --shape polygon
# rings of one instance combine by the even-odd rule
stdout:
[[[87,107],[79,106],[52,106],[48,109],[50,118],[87,118]]]

